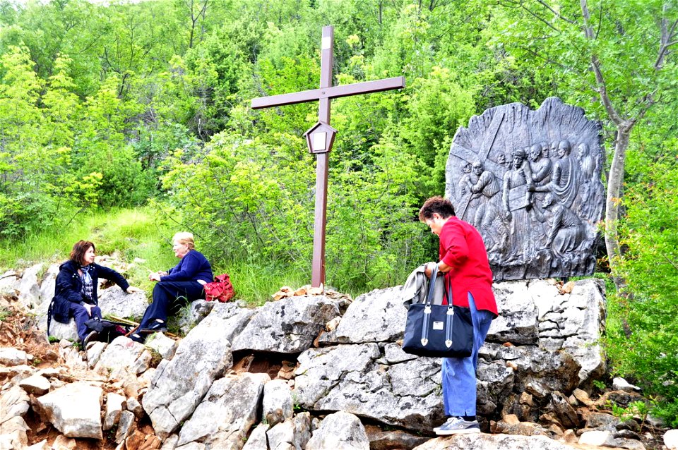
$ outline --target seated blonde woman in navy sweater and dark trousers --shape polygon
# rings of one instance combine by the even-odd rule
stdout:
[[[167,272],[148,275],[148,279],[157,281],[153,288],[153,303],[143,313],[138,331],[130,336],[133,341],[143,342],[147,334],[166,332],[168,315],[176,314],[186,303],[205,298],[203,285],[214,281],[212,266],[196,250],[193,233],[177,233],[172,241],[179,264]]]

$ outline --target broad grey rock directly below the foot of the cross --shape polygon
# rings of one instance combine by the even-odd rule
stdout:
[[[324,296],[290,297],[268,302],[233,340],[233,351],[299,353],[310,348],[339,308]]]

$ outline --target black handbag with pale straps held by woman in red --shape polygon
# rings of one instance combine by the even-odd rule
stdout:
[[[426,303],[412,303],[405,323],[403,351],[433,358],[465,358],[473,351],[471,310],[452,305],[452,286],[448,283],[448,305],[433,305],[438,267],[431,274]]]

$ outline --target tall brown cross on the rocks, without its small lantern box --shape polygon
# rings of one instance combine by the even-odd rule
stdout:
[[[331,99],[405,87],[405,77],[366,81],[364,83],[354,83],[352,85],[332,86],[334,28],[331,26],[323,27],[321,49],[320,89],[252,99],[252,109],[280,107],[285,104],[305,103],[319,100],[318,121],[320,124],[329,125]],[[327,223],[327,178],[328,153],[330,148],[331,145],[328,145],[327,147],[323,147],[323,152],[316,153],[316,218],[313,234],[313,263],[311,266],[311,286],[314,287],[323,286],[325,284],[325,226]]]

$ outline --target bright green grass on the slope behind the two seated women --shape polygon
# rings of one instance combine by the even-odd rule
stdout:
[[[143,289],[150,299],[155,282],[148,273],[174,267],[178,260],[172,253],[175,224],[158,220],[154,209],[112,209],[78,215],[67,229],[45,229],[23,240],[0,240],[0,269],[18,269],[37,262],[60,263],[69,257],[73,243],[92,241],[97,255],[119,252],[121,260],[132,263],[124,274],[132,286]],[[196,248],[201,250],[198,239]],[[250,306],[261,306],[282,286],[299,288],[311,282],[311,262],[307,269],[251,260],[224,261],[220,255],[206,255],[215,275],[228,273],[235,298]],[[136,261],[135,261],[136,260]],[[356,296],[362,292],[348,292]]]

